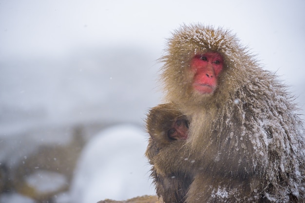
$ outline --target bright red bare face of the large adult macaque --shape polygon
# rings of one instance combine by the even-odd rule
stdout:
[[[191,61],[191,71],[194,72],[193,89],[203,94],[213,93],[223,66],[223,58],[218,53],[195,55]]]

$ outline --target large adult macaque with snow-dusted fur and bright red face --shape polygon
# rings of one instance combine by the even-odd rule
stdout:
[[[235,35],[184,25],[161,61],[165,100],[190,122],[186,140],[155,139],[147,149],[165,203],[178,184],[162,192],[157,179],[171,174],[191,180],[180,183],[189,185],[178,200],[185,203],[305,200],[304,127],[293,97]]]

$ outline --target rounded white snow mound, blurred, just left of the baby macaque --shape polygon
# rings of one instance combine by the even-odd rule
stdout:
[[[147,135],[133,125],[110,127],[84,148],[76,167],[73,203],[127,200],[154,195],[150,166],[144,157]]]

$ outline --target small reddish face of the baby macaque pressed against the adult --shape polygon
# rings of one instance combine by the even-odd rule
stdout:
[[[168,136],[172,140],[186,140],[188,128],[188,122],[185,119],[176,120],[169,129]]]

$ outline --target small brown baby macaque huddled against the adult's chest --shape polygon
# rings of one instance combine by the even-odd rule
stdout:
[[[146,156],[152,165],[153,158],[161,148],[166,148],[172,142],[185,143],[188,137],[189,123],[173,104],[161,104],[152,108],[146,123],[150,134]],[[162,196],[166,203],[182,203],[192,182],[190,174],[170,172],[161,175],[157,174],[153,167],[151,176],[158,196]]]

